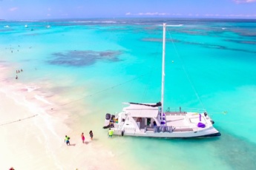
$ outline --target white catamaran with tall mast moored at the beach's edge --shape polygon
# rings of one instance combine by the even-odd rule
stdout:
[[[214,128],[206,111],[185,112],[163,111],[165,85],[165,27],[163,24],[163,65],[162,65],[162,97],[158,103],[124,103],[128,106],[117,115],[105,115],[104,129],[110,129],[113,135],[140,137],[214,137],[220,132]]]

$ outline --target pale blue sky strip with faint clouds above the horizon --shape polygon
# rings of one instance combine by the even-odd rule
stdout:
[[[0,19],[256,18],[256,0],[0,0]]]

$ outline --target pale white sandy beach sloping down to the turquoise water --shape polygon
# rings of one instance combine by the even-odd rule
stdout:
[[[0,160],[4,160],[0,169],[120,168],[111,150],[99,141],[100,137],[91,142],[88,129],[76,124],[79,116],[64,109],[50,109],[58,108],[53,101],[58,96],[44,97],[39,86],[22,84],[15,77],[4,78],[10,69],[1,66],[5,74],[0,78]],[[81,107],[73,109],[78,111]],[[86,143],[80,139],[83,131]],[[65,135],[70,136],[71,146],[65,145]]]

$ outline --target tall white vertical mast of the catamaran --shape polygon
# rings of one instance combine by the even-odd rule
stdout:
[[[162,63],[162,109],[161,109],[161,119],[163,117],[163,99],[164,99],[164,92],[165,92],[165,26],[166,23],[163,23],[163,63]]]

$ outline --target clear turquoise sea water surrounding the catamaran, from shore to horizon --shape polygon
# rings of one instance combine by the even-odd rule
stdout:
[[[85,105],[81,123],[100,136],[105,113],[122,102],[160,101],[163,22],[182,24],[166,33],[165,109],[203,107],[222,136],[99,139],[124,169],[128,161],[139,169],[255,169],[255,21],[91,19],[51,21],[50,29],[43,21],[1,21],[0,61],[29,72],[24,84],[47,81],[51,92],[81,99],[71,106]]]

